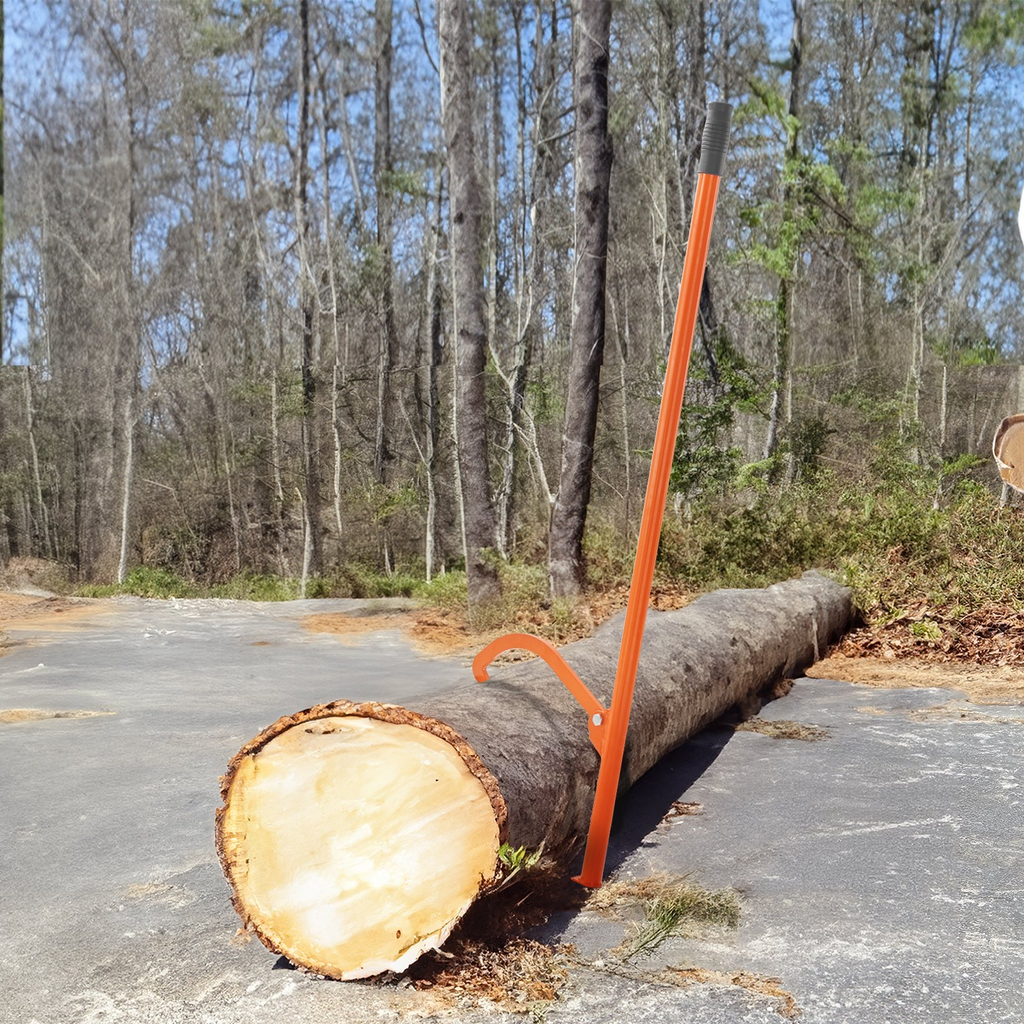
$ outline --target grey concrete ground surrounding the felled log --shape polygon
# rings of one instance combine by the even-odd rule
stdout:
[[[0,725],[2,1024],[429,1014],[408,988],[316,980],[240,944],[213,850],[217,778],[273,719],[341,696],[400,702],[468,675],[395,633],[343,644],[298,623],[358,606],[125,599],[77,628],[9,631],[22,644],[0,658],[0,710],[117,714]],[[637,966],[775,976],[807,1024],[1024,1022],[1024,709],[922,714],[955,697],[801,680],[762,717],[828,739],[711,729],[663,762],[630,795],[611,868],[734,886],[743,908],[738,929],[670,939]],[[703,813],[658,826],[679,799]],[[543,937],[610,966],[625,928],[563,913]],[[532,1019],[779,1024],[777,1007],[734,986],[578,969]]]

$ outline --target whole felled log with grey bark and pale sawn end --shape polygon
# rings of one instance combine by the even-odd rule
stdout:
[[[849,590],[813,572],[652,612],[624,783],[730,709],[756,708],[851,617]],[[620,616],[562,648],[605,707],[621,632]],[[541,660],[413,709],[336,700],[280,719],[231,759],[217,850],[269,949],[332,978],[398,972],[500,882],[503,843],[572,849],[598,767],[585,714]]]

